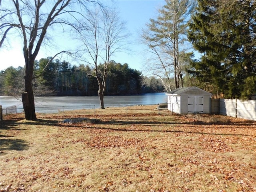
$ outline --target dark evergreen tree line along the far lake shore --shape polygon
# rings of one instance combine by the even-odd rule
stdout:
[[[35,96],[97,96],[98,82],[92,76],[93,69],[87,64],[79,66],[51,57],[35,61],[32,82]],[[104,65],[98,66],[100,69]],[[24,67],[8,67],[0,73],[0,94],[2,96],[20,96],[24,89]],[[109,62],[106,95],[134,95],[147,92],[164,92],[161,82],[148,78],[142,72],[132,69],[128,64]]]

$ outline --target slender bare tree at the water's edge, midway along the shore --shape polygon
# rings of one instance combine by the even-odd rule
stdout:
[[[88,12],[86,19],[77,27],[78,40],[82,42],[81,60],[89,64],[94,73],[90,74],[98,81],[100,108],[104,109],[104,92],[111,56],[125,48],[128,34],[124,34],[125,23],[120,20],[114,8],[96,6]],[[99,68],[103,65],[103,69]]]

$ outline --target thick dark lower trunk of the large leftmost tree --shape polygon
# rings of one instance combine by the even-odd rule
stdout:
[[[35,120],[36,112],[35,112],[35,103],[34,103],[34,94],[32,89],[32,75],[33,75],[33,67],[34,61],[29,61],[26,65],[26,73],[25,73],[25,85],[24,92],[22,93],[22,104],[25,113],[26,120]],[[31,63],[32,62],[32,63]]]

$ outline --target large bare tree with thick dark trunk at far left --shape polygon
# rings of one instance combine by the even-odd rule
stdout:
[[[80,3],[80,6],[76,4]],[[12,0],[0,1],[0,48],[10,34],[18,33],[23,42],[25,59],[24,92],[22,103],[27,120],[36,119],[34,94],[32,90],[34,61],[46,40],[46,33],[54,26],[74,26],[70,18],[76,20],[76,15],[82,16],[78,8],[86,11],[86,1],[75,0]]]

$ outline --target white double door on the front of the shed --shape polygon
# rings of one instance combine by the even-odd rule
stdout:
[[[188,96],[188,112],[204,112],[204,96]]]

